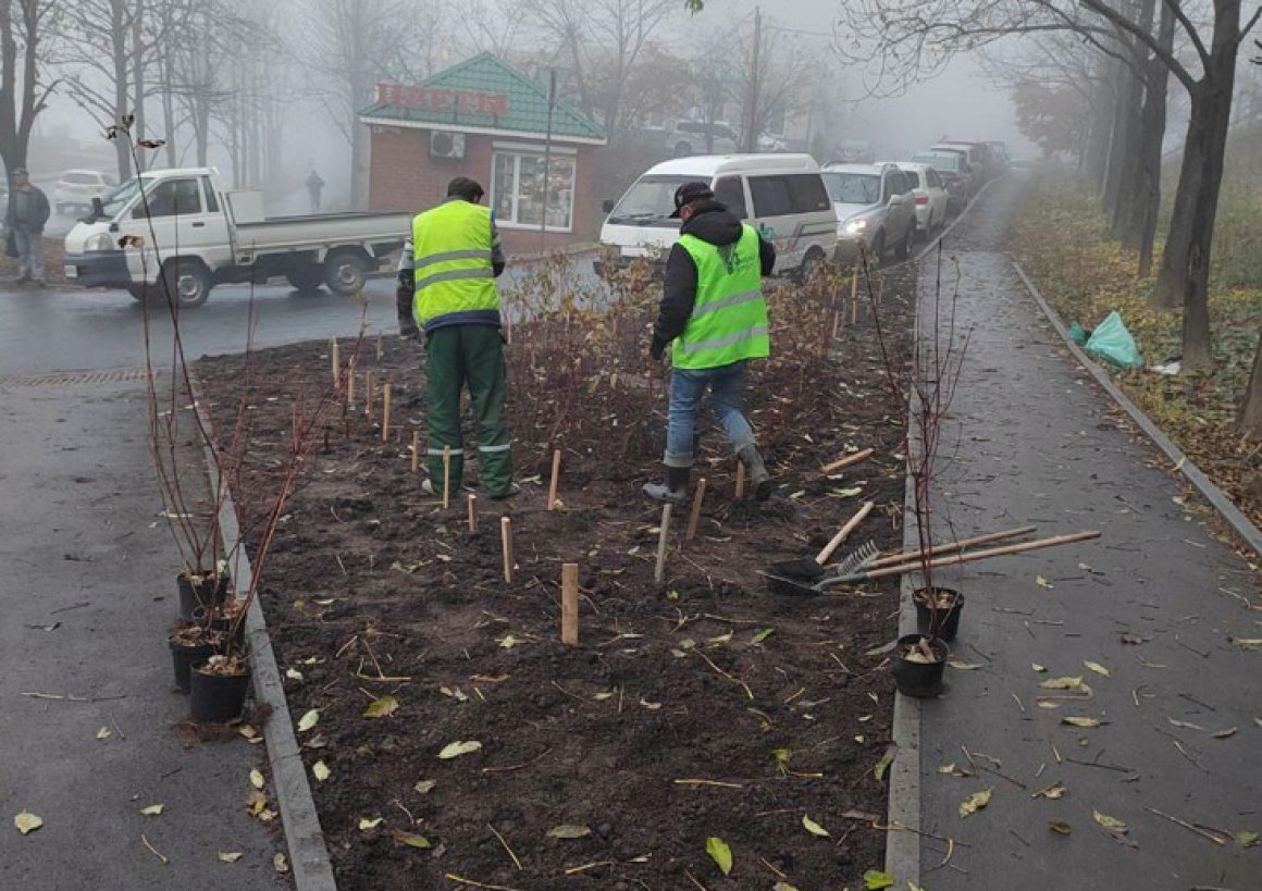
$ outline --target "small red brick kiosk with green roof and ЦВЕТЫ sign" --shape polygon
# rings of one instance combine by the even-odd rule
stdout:
[[[372,135],[369,208],[420,212],[464,175],[486,188],[510,254],[594,240],[594,153],[606,136],[554,101],[549,140],[548,117],[548,86],[491,53],[416,86],[377,85],[376,103],[360,112]]]

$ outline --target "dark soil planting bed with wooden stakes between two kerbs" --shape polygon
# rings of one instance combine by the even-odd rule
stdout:
[[[901,361],[915,273],[885,278],[882,327]],[[819,294],[780,289],[776,355],[751,396],[782,486],[761,506],[737,502],[736,462],[708,425],[699,533],[683,543],[688,511],[676,509],[658,584],[661,511],[640,486],[660,473],[665,398],[661,369],[642,356],[656,294],[641,290],[599,322],[567,305],[515,327],[524,486],[507,504],[480,500],[476,534],[464,492],[444,511],[411,472],[413,430],[425,442],[422,347],[362,345],[358,371],[391,384],[394,430],[382,443],[380,398],[366,418],[361,374],[281,520],[260,592],[295,721],[318,711],[298,738],[308,769],[323,765],[312,786],[343,891],[853,887],[882,864],[883,832],[863,815],[886,811],[875,772],[890,742],[881,650],[896,637],[897,581],[791,598],[760,575],[813,555],[866,500],[877,507],[840,555],[868,539],[901,545],[904,419],[871,314],[863,305],[825,356]],[[220,429],[246,420],[245,458],[228,472],[257,535],[251,493],[275,486],[295,403],[329,385],[329,345],[204,358],[198,376]],[[548,511],[554,447],[563,509]],[[820,472],[867,447],[868,461]],[[577,647],[559,639],[567,562],[581,567]],[[384,717],[365,717],[374,703]],[[728,876],[707,854],[712,837],[731,849]]]

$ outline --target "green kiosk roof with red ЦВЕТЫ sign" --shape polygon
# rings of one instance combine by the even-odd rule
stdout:
[[[423,130],[457,130],[543,138],[548,87],[491,53],[480,53],[416,86],[379,83],[377,101],[360,112],[365,124],[394,122]],[[557,101],[553,139],[604,144],[592,120]]]

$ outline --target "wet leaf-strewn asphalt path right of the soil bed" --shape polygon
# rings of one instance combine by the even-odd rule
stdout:
[[[1218,846],[1153,813],[1262,832],[1262,652],[1228,642],[1262,637],[1262,612],[1228,593],[1262,602],[1256,578],[1184,507],[1156,449],[1071,360],[1008,260],[987,250],[1017,187],[992,192],[983,222],[954,239],[982,250],[948,251],[941,269],[944,298],[958,283],[959,323],[973,333],[943,437],[939,519],[960,538],[1026,524],[1040,536],[1103,536],[939,570],[939,584],[968,598],[953,659],[979,668],[948,668],[946,694],[921,711],[921,829],[955,848],[941,866],[946,846],[924,838],[920,883],[1256,891],[1262,846]],[[934,257],[925,264],[923,289],[935,273]],[[1040,682],[1066,675],[1093,698],[1040,708],[1037,697],[1066,693]],[[1103,724],[1066,726],[1069,716]],[[940,772],[949,764],[974,775]],[[1032,798],[1058,782],[1064,798]],[[960,803],[988,788],[989,805],[960,818]],[[1094,811],[1128,832],[1109,835]]]

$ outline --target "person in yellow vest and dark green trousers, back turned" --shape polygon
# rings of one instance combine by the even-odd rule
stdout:
[[[410,293],[411,318],[400,307],[400,333],[423,334],[429,403],[429,478],[424,491],[440,495],[449,451],[449,492],[464,478],[461,390],[468,387],[477,420],[482,488],[491,499],[516,491],[509,435],[509,385],[500,334],[495,279],[505,256],[482,187],[457,177],[447,201],[411,221],[411,241],[399,261],[399,290]],[[409,324],[410,323],[410,324]]]

